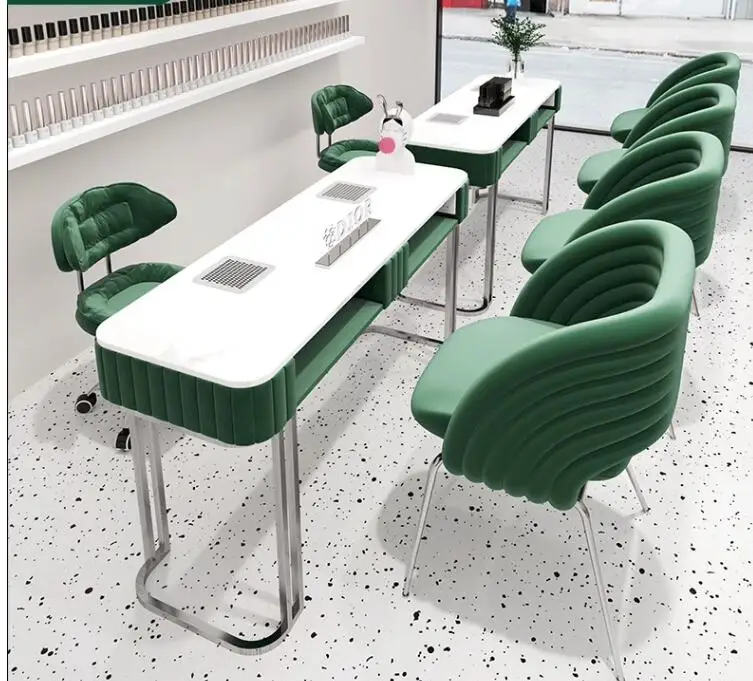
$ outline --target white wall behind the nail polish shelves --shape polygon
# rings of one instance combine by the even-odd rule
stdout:
[[[9,25],[103,9],[13,6]],[[347,82],[372,98],[383,92],[388,99],[402,99],[413,113],[433,103],[435,10],[435,0],[352,0],[305,15],[11,81],[8,101],[19,102],[172,60],[184,56],[184,51],[192,54],[345,12],[351,14],[353,34],[366,36],[365,47],[8,174],[10,395],[92,342],[74,319],[76,277],[58,271],[52,257],[50,218],[60,203],[91,186],[141,182],[170,197],[178,206],[178,218],[116,254],[115,265],[145,260],[191,262],[321,177],[309,104],[317,88]],[[374,118],[348,132],[373,137]],[[94,277],[89,275],[87,281]]]

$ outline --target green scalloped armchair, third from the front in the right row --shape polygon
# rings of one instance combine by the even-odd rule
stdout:
[[[707,83],[681,90],[654,104],[628,135],[621,149],[594,154],[578,172],[578,186],[590,192],[628,151],[674,132],[708,132],[724,147],[726,170],[737,95],[729,85]]]

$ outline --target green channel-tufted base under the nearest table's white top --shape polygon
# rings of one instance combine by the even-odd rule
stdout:
[[[416,232],[272,380],[228,388],[95,346],[102,396],[114,404],[228,445],[280,433],[297,406],[468,214],[468,187],[452,216],[436,214]]]

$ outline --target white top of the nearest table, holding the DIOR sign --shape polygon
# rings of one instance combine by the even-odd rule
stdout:
[[[467,181],[454,168],[417,164],[399,175],[377,171],[373,157],[354,159],[110,317],[97,342],[215,384],[263,384]],[[324,227],[354,208],[317,196],[334,182],[376,187],[371,212],[381,222],[322,267]],[[243,293],[195,281],[228,256],[274,269]]]

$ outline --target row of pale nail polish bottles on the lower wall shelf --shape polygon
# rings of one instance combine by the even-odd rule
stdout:
[[[44,101],[36,97],[33,107],[21,102],[20,120],[17,107],[11,104],[8,148],[33,144],[272,64],[337,39],[348,27],[347,16],[336,17],[120,74],[88,87],[81,85],[67,93],[61,90],[57,98],[51,94]]]

